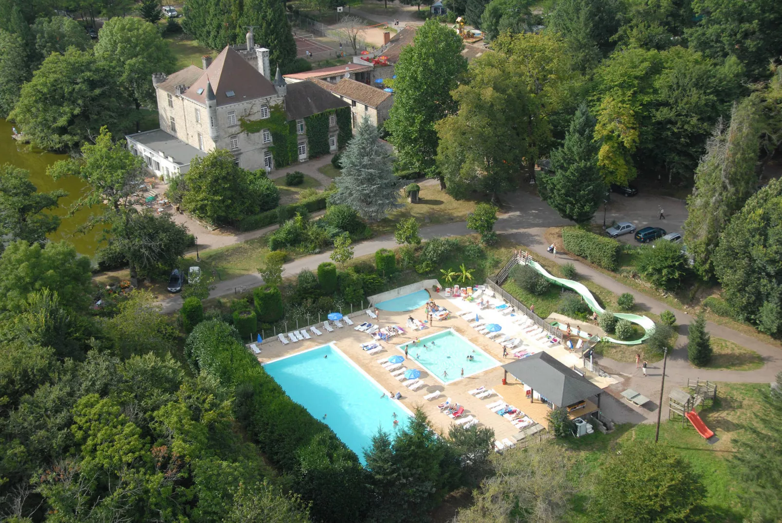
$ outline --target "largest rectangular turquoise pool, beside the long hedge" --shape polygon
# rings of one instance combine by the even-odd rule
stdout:
[[[402,404],[389,398],[389,391],[383,391],[331,345],[271,361],[264,369],[293,401],[328,424],[362,464],[363,450],[371,446],[378,428],[393,435],[409,419]],[[382,398],[381,392],[385,392]]]

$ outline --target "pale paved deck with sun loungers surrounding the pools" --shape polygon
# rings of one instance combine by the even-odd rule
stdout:
[[[272,342],[265,342],[262,346],[262,353],[258,356],[258,360],[261,363],[267,361],[276,360],[281,357],[290,356],[292,354],[300,353],[303,350],[312,349],[317,346],[322,346],[327,343],[333,343],[337,346],[346,356],[348,356],[359,367],[364,369],[367,374],[375,379],[386,392],[400,391],[402,392],[401,402],[410,410],[415,410],[416,407],[421,407],[429,420],[432,423],[432,428],[443,434],[447,433],[451,420],[446,414],[443,414],[437,408],[439,403],[442,403],[448,397],[451,398],[452,403],[459,403],[465,407],[465,414],[462,417],[468,417],[472,415],[477,417],[481,424],[490,426],[494,429],[496,439],[512,438],[512,436],[518,434],[518,428],[515,428],[510,421],[505,420],[503,417],[494,414],[490,410],[486,409],[486,405],[493,403],[499,399],[505,399],[507,403],[511,403],[518,409],[524,411],[529,417],[544,427],[547,426],[546,414],[548,407],[543,403],[529,403],[529,399],[523,397],[523,387],[513,385],[501,385],[502,378],[504,378],[504,370],[502,367],[494,367],[486,371],[473,374],[472,376],[459,379],[455,382],[450,382],[446,385],[441,384],[435,378],[425,370],[425,368],[418,365],[413,359],[406,360],[405,367],[408,369],[416,368],[421,371],[421,378],[425,381],[426,386],[418,389],[418,391],[411,391],[404,387],[401,382],[396,381],[388,371],[378,364],[378,360],[381,358],[388,358],[400,354],[396,349],[397,345],[405,342],[411,342],[416,338],[423,336],[436,334],[453,328],[459,334],[463,335],[470,342],[479,346],[482,350],[486,351],[490,356],[500,362],[501,364],[514,361],[516,358],[502,356],[502,346],[492,340],[480,335],[475,329],[470,326],[468,321],[461,319],[457,314],[472,310],[470,303],[461,299],[446,298],[440,296],[436,292],[428,291],[435,302],[439,305],[445,306],[450,311],[450,318],[445,321],[435,321],[432,327],[425,328],[423,331],[412,331],[407,328],[407,317],[412,316],[418,320],[423,321],[424,310],[423,307],[414,311],[405,312],[389,312],[380,310],[377,320],[372,320],[365,313],[356,317],[351,317],[351,320],[358,325],[363,321],[369,321],[373,324],[379,324],[380,327],[386,327],[389,325],[399,325],[405,329],[404,335],[397,335],[389,340],[389,342],[378,342],[383,347],[382,352],[376,353],[374,356],[370,356],[366,351],[361,349],[361,343],[371,342],[371,336],[364,334],[364,332],[356,331],[354,328],[345,325],[343,328],[334,328],[333,332],[328,332],[322,325],[318,325],[317,329],[323,333],[321,336],[312,335],[312,339],[303,340],[301,342],[290,342],[287,345],[283,345],[277,339]],[[486,314],[481,311],[481,316],[486,317]],[[456,313],[456,314],[454,314]],[[355,326],[355,325],[354,325]],[[310,333],[311,334],[311,333]],[[567,350],[561,347],[547,347],[547,352],[552,356],[557,357],[559,360],[565,360],[563,363],[572,365],[569,360],[576,358]],[[509,355],[510,356],[510,355]],[[577,360],[577,358],[576,358]],[[514,378],[508,374],[508,383],[515,384]],[[608,384],[597,384],[604,387]],[[484,386],[486,389],[494,389],[499,392],[501,396],[493,394],[486,399],[478,399],[475,396],[468,394],[469,390],[476,389]],[[432,401],[426,401],[424,396],[431,392],[439,391],[441,396]],[[520,392],[519,392],[520,391]],[[507,396],[507,397],[506,397]],[[540,408],[538,408],[540,407]],[[576,416],[580,413],[576,413]]]

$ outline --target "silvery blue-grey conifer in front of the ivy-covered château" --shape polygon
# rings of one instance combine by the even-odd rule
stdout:
[[[380,220],[399,207],[402,188],[393,175],[389,154],[378,138],[378,128],[364,116],[339,157],[343,171],[334,181],[339,190],[332,196],[332,203],[344,203],[369,221]]]

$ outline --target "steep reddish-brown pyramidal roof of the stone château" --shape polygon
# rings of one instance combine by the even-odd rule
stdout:
[[[230,47],[224,48],[206,71],[200,71],[201,76],[185,91],[185,96],[204,105],[207,81],[212,85],[218,107],[277,94],[271,81]]]

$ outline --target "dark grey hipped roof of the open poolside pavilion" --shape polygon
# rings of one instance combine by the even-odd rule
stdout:
[[[603,392],[587,378],[545,352],[502,367],[558,407],[567,407]]]

